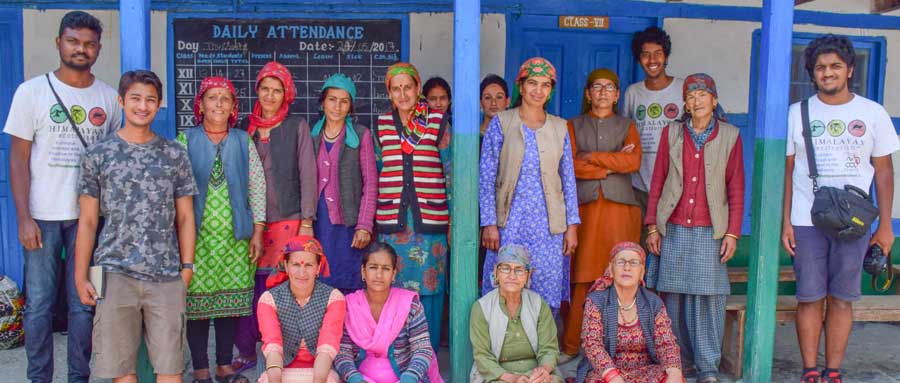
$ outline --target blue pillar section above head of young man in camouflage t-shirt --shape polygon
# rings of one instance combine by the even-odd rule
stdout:
[[[150,69],[150,0],[119,2],[122,73]]]

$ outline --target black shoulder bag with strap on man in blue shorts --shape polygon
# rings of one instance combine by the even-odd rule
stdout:
[[[843,189],[831,186],[819,187],[819,176],[816,168],[816,149],[812,143],[812,132],[809,127],[809,101],[800,104],[803,119],[803,140],[806,142],[806,160],[809,164],[809,178],[813,181],[812,214],[813,225],[820,230],[843,240],[852,241],[869,233],[872,222],[878,217],[878,209],[872,197],[862,189],[853,185],[844,185]]]

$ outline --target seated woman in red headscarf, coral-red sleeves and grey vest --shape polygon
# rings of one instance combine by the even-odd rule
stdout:
[[[328,260],[313,237],[288,240],[280,267],[266,281],[257,319],[266,372],[260,383],[340,382],[331,370],[347,305],[337,289],[317,280],[328,276]]]

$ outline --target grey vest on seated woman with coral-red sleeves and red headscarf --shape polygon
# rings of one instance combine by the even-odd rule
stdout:
[[[281,339],[284,343],[284,365],[287,366],[297,357],[300,343],[306,340],[306,348],[313,356],[316,355],[316,345],[319,344],[319,331],[322,329],[322,320],[325,319],[325,308],[328,307],[328,298],[333,287],[320,281],[316,281],[309,302],[303,307],[297,304],[297,299],[291,293],[290,281],[269,289],[275,298],[275,308],[278,313],[278,322],[281,323]]]

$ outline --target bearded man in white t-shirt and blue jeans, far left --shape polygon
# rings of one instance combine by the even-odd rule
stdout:
[[[56,38],[59,68],[19,85],[3,128],[11,138],[10,181],[25,248],[25,351],[32,382],[53,379],[52,319],[63,288],[60,274],[69,310],[69,382],[87,382],[90,376],[93,311],[78,299],[72,279],[77,185],[85,148],[118,129],[122,119],[116,91],[91,73],[102,33],[94,16],[67,13]]]

